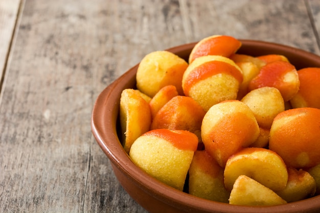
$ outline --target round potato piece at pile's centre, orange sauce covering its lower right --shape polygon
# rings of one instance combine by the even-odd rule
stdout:
[[[250,108],[241,101],[223,101],[204,115],[201,138],[205,150],[221,167],[230,156],[249,147],[259,136],[259,126]]]

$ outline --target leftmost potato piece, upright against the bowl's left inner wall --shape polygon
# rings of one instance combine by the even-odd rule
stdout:
[[[134,89],[125,89],[120,98],[120,126],[123,133],[122,144],[129,153],[134,140],[150,130],[151,111],[149,104]]]

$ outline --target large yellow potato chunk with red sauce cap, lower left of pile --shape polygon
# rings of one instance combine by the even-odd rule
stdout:
[[[129,156],[152,177],[182,191],[197,145],[191,132],[156,129],[136,139]]]

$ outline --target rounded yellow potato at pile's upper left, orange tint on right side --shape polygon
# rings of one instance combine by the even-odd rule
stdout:
[[[180,95],[182,91],[182,76],[188,63],[168,51],[155,51],[146,55],[136,72],[136,87],[153,97],[162,87],[174,85]]]

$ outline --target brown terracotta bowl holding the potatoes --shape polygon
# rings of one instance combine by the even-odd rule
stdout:
[[[314,54],[279,45],[254,40],[241,40],[241,54],[259,56],[265,54],[285,55],[297,69],[320,67],[320,57]],[[195,43],[171,48],[168,51],[188,61]],[[135,88],[138,65],[110,84],[99,95],[92,114],[92,131],[103,152],[110,159],[113,172],[128,194],[149,212],[320,212],[320,196],[284,205],[255,207],[237,206],[194,197],[159,182],[136,167],[122,148],[118,136],[118,111],[121,92]]]

